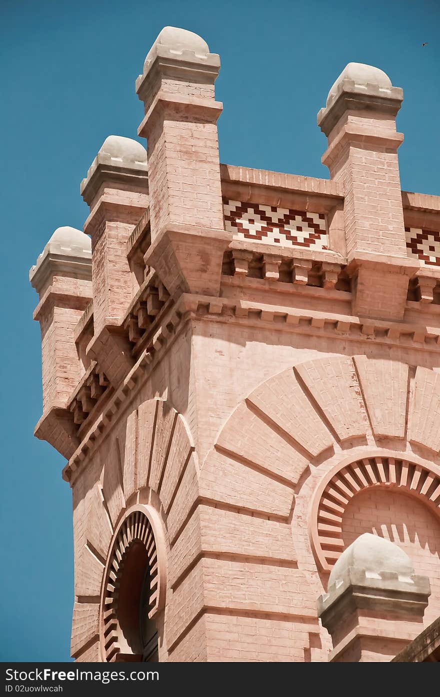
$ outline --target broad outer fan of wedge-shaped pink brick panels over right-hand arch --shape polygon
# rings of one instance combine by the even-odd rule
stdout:
[[[365,355],[301,362],[261,383],[223,424],[202,466],[202,495],[207,488],[215,498],[220,465],[222,498],[227,473],[240,478],[237,462],[294,488],[335,449],[373,440],[379,447],[385,439],[402,450],[421,447],[427,459],[439,454],[439,373]],[[284,511],[283,504],[277,512]]]

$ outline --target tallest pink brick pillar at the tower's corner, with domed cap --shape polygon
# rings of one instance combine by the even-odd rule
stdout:
[[[224,231],[214,82],[217,54],[185,29],[165,27],[136,88],[145,116],[151,212],[149,265],[170,293],[216,295]]]

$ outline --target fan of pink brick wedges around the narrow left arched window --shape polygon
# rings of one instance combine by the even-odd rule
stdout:
[[[73,609],[71,654],[100,661],[105,656],[99,640],[100,599],[119,526],[140,492],[140,503],[149,501],[152,515],[170,539],[175,537],[187,514],[185,507],[192,504],[188,496],[188,503],[179,505],[179,487],[185,477],[197,481],[197,464],[183,416],[164,399],[142,402],[115,424],[112,436],[91,456],[100,459],[102,473],[77,503],[75,595],[81,602]]]

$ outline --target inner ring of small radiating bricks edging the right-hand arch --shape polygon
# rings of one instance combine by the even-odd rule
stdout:
[[[347,506],[356,494],[374,488],[414,496],[440,519],[440,468],[434,464],[391,451],[346,459],[326,474],[310,506],[310,539],[321,571],[330,571],[344,549]]]

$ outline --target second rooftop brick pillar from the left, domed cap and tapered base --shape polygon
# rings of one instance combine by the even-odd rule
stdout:
[[[120,325],[132,300],[126,243],[149,205],[146,151],[130,138],[109,136],[82,181],[90,206],[93,340],[88,355],[116,387],[132,365]]]

